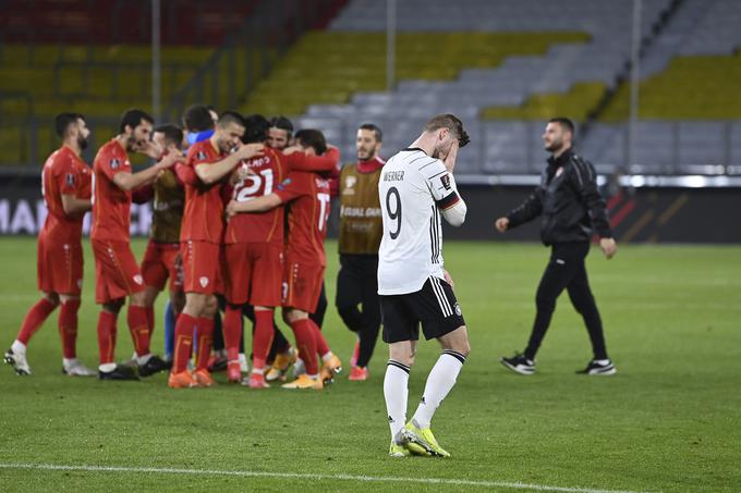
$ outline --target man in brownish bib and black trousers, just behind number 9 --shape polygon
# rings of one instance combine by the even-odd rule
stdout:
[[[357,334],[350,380],[368,378],[368,361],[380,329],[378,301],[378,247],[384,225],[378,178],[384,161],[378,157],[381,132],[364,124],[357,130],[357,162],[342,168],[340,195],[340,271],[337,274],[337,311]]]

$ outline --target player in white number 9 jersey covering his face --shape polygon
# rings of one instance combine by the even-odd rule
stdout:
[[[378,183],[384,236],[378,251],[378,294],[389,362],[384,396],[391,427],[389,455],[449,457],[429,423],[455,384],[471,352],[453,282],[442,267],[442,224],[465,220],[453,168],[460,147],[469,144],[452,114],[429,120],[410,147],[388,160]],[[414,363],[418,325],[425,338],[437,338],[442,354],[433,367],[422,400],[406,422],[409,372]],[[406,424],[404,424],[406,422]]]

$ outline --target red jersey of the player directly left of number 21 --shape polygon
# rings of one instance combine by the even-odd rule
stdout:
[[[212,164],[229,156],[214,147],[210,139],[194,144],[187,150],[186,165]],[[180,241],[221,243],[223,235],[223,200],[221,182],[206,185],[199,180],[185,183],[185,210]]]

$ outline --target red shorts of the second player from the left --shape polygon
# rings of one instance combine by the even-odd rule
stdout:
[[[110,303],[144,291],[144,278],[126,242],[92,239],[95,301]]]

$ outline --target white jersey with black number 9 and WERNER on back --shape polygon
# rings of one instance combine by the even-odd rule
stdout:
[[[378,250],[378,294],[422,289],[442,276],[440,210],[460,201],[442,161],[422,149],[403,149],[386,162],[378,182],[384,236]]]

